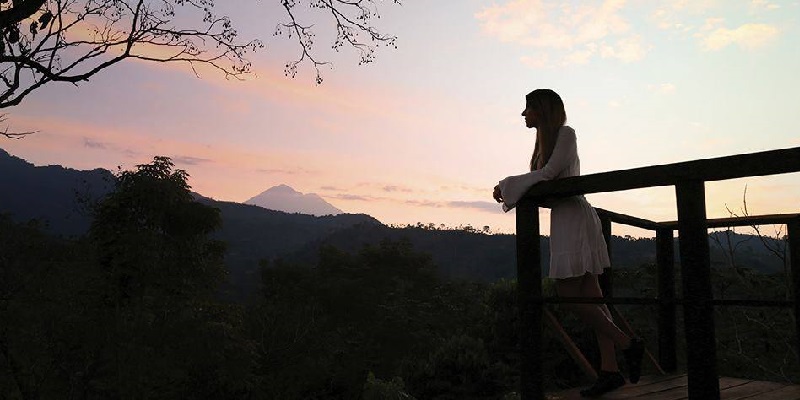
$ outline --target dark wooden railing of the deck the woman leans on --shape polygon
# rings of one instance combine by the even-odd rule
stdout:
[[[686,360],[690,400],[720,398],[714,332],[715,305],[786,306],[794,308],[800,353],[800,217],[794,214],[708,220],[705,182],[800,171],[800,147],[735,155],[676,164],[564,178],[531,188],[517,204],[517,281],[520,302],[521,394],[523,400],[544,399],[542,382],[542,307],[545,303],[605,302],[608,304],[658,304],[659,360],[666,371],[675,371],[676,307],[683,306]],[[800,182],[799,182],[800,184]],[[543,298],[538,204],[548,199],[599,192],[616,192],[655,186],[674,186],[678,221],[657,223],[602,210],[606,242],[611,222],[655,230],[658,265],[658,298],[616,298],[612,274],[601,283],[604,299]],[[800,206],[800,204],[798,204]],[[793,301],[714,300],[711,286],[708,228],[752,224],[786,224],[789,237]],[[675,297],[673,242],[678,230],[682,298]],[[610,272],[610,271],[609,271]]]

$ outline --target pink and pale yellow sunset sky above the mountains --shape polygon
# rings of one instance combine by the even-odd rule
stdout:
[[[308,65],[284,76],[299,49],[273,35],[285,20],[273,2],[217,2],[242,37],[266,45],[243,81],[123,62],[4,110],[12,130],[36,133],[0,148],[76,169],[165,155],[218,200],[286,184],[386,224],[512,233],[514,211],[491,194],[526,172],[535,131],[520,112],[536,88],[564,99],[584,175],[800,146],[797,0],[378,2],[375,25],[397,49],[358,65],[356,53],[330,51],[320,24],[318,57],[332,63],[322,85]],[[787,174],[707,183],[709,217],[741,212],[745,188],[752,215],[800,211],[800,175]],[[654,221],[677,215],[670,187],[587,199]]]

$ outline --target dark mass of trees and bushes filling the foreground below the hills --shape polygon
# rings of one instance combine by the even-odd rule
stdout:
[[[166,158],[118,174],[82,236],[0,217],[0,399],[517,398],[513,280],[445,280],[382,240],[262,261],[259,289],[228,302],[220,212],[186,179]],[[720,266],[715,295],[785,298],[783,276]],[[615,276],[619,295],[654,288],[651,265]],[[594,338],[553,309],[596,362]],[[656,343],[653,310],[622,312]],[[716,317],[722,374],[800,380],[788,310]],[[551,388],[588,383],[550,329],[544,348]]]

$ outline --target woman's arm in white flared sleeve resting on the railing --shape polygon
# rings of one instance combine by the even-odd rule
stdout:
[[[527,174],[509,176],[500,181],[498,186],[503,200],[503,211],[507,212],[514,208],[531,186],[541,181],[549,181],[569,168],[576,157],[578,157],[578,144],[575,130],[562,127],[556,138],[553,154],[544,167]]]

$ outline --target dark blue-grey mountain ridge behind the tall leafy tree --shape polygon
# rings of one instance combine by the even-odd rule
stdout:
[[[92,220],[88,204],[113,187],[114,176],[107,170],[35,166],[0,149],[0,213],[9,214],[17,222],[38,220],[51,234],[85,234]],[[257,287],[260,260],[298,251],[309,242],[353,225],[380,225],[369,215],[342,214],[339,210],[338,215],[317,217],[192,195],[221,211],[222,228],[214,237],[227,245],[225,263],[230,272],[229,289],[237,295],[234,297]]]

